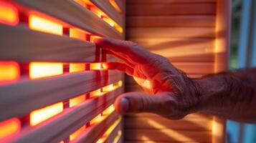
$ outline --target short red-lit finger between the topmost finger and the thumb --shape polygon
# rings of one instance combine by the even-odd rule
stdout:
[[[124,71],[126,74],[133,76],[133,68],[127,66],[126,64],[120,62],[108,62],[104,64],[107,66],[107,69],[117,69],[119,71]]]

